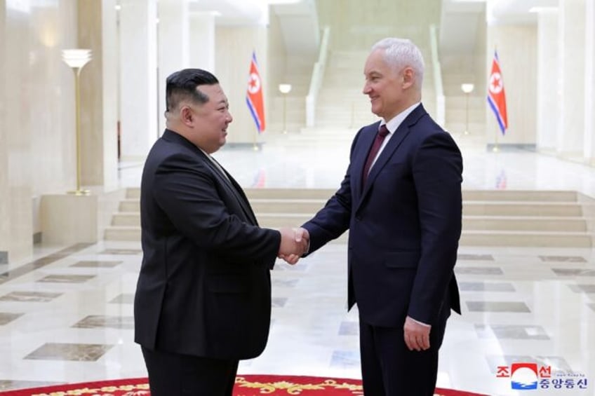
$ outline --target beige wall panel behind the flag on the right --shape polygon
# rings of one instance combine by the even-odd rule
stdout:
[[[497,48],[506,92],[508,125],[506,135],[489,106],[486,106],[486,139],[499,144],[535,144],[537,113],[537,27],[496,25],[488,27],[486,76],[490,74],[494,48]],[[522,67],[519,67],[522,65]],[[487,84],[484,93],[487,95]]]

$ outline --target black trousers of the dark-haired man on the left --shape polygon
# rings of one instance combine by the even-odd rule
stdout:
[[[238,360],[180,355],[142,347],[151,396],[232,396]]]

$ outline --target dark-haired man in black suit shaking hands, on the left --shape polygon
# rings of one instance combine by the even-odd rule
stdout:
[[[166,86],[167,129],[142,172],[142,266],[135,294],[152,396],[231,396],[239,360],[267,343],[272,269],[302,254],[295,231],[260,228],[239,184],[210,156],[232,122],[213,74]]]

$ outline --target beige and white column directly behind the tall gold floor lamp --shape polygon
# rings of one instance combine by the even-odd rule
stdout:
[[[93,59],[81,71],[81,184],[113,191],[118,184],[118,42],[115,0],[79,0],[78,45]]]

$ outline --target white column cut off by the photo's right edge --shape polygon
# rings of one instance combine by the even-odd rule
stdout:
[[[584,69],[584,153],[595,165],[595,2],[586,2]]]

